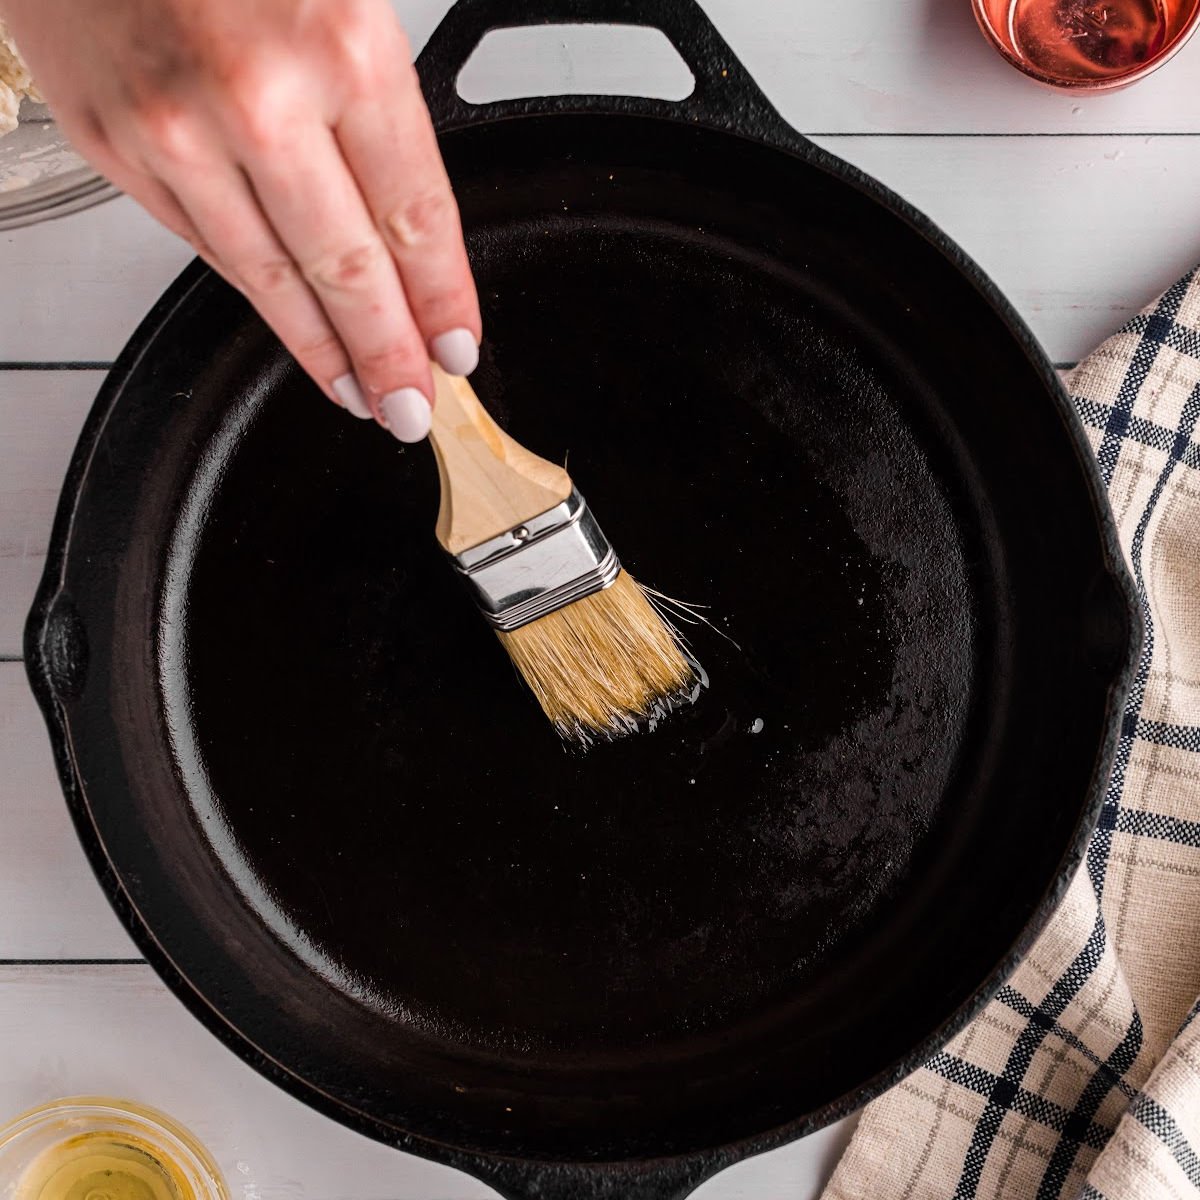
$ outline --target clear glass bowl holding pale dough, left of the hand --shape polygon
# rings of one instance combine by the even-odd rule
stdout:
[[[0,137],[0,229],[79,212],[120,193],[62,136],[44,104],[26,100]]]

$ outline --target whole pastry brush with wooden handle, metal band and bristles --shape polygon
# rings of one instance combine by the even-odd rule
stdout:
[[[434,382],[438,541],[546,716],[587,744],[670,712],[696,670],[571,476],[509,437],[466,379],[434,367]]]

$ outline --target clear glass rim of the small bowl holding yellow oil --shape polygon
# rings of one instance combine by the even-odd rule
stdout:
[[[36,1196],[37,1192],[23,1190],[22,1178],[28,1178],[43,1154],[67,1148],[66,1144],[85,1145],[90,1136],[104,1134],[127,1138],[137,1150],[157,1159],[182,1200],[229,1200],[216,1163],[182,1126],[144,1105],[98,1096],[53,1100],[0,1129],[0,1195],[13,1200]]]

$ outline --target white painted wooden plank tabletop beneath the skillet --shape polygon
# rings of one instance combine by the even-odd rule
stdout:
[[[941,223],[1056,362],[1200,260],[1200,37],[1132,90],[1079,100],[1003,65],[968,0],[703,2],[782,114]],[[420,46],[448,4],[398,6]],[[485,43],[462,89],[678,96],[686,73],[653,37],[523,31]],[[103,367],[188,257],[124,199],[0,234],[0,1122],[58,1094],[127,1094],[191,1126],[235,1200],[491,1196],[244,1067],[142,962],[67,821],[22,624]],[[816,1196],[848,1133],[745,1163],[697,1196]]]

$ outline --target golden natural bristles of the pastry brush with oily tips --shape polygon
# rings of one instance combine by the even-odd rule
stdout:
[[[678,632],[628,571],[499,638],[545,714],[576,742],[631,732],[696,686]]]

